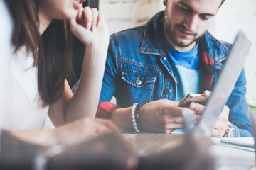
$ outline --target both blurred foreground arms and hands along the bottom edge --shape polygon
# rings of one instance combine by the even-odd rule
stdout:
[[[46,148],[17,140],[3,132],[0,169],[208,170],[214,167],[214,159],[208,154],[211,142],[205,137],[192,140],[189,135],[174,135],[167,145],[144,156],[137,154],[135,143],[132,145],[124,138],[127,137],[111,133],[78,145]],[[148,139],[145,147],[152,147],[154,142],[155,139]]]

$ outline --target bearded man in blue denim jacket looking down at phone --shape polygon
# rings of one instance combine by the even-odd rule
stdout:
[[[216,83],[231,45],[207,30],[223,1],[164,0],[166,10],[146,26],[114,33],[97,117],[110,118],[122,132],[135,128],[174,133],[184,128],[185,113],[193,113],[198,120],[203,105],[180,108],[177,103],[189,92],[209,96]],[[223,137],[227,129],[235,130],[231,135],[235,137],[252,135],[245,84],[242,70],[212,137]],[[117,105],[108,102],[112,96]],[[131,118],[132,106],[137,108],[134,103],[143,104],[139,125]]]

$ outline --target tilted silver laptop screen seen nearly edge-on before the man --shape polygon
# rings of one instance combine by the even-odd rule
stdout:
[[[188,132],[193,135],[203,134],[210,137],[215,122],[234,89],[250,47],[250,40],[247,39],[244,33],[239,32],[223,65],[223,69],[220,71],[212,94],[206,101],[206,107],[203,110],[201,119],[198,120],[193,130],[189,129]]]

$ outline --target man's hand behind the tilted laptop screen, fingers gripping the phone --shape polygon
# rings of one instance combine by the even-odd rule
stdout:
[[[205,91],[204,95],[209,98],[210,97],[210,91]],[[199,120],[201,118],[201,113],[203,112],[203,109],[205,106],[198,104],[198,103],[191,103],[189,105],[189,108],[191,110],[196,112],[196,120]],[[213,128],[213,131],[211,133],[211,137],[223,137],[225,130],[228,126],[228,115],[229,115],[229,108],[228,106],[224,106],[223,111],[220,113],[218,120],[215,123],[215,126]]]

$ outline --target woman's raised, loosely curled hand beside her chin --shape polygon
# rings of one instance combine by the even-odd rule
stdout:
[[[72,33],[85,46],[109,44],[109,31],[102,11],[97,8],[85,7],[78,12],[77,19],[70,19]]]

